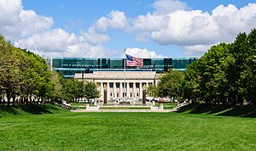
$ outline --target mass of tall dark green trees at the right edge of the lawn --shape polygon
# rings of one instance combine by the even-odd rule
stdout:
[[[255,103],[256,30],[240,33],[235,42],[212,46],[201,59],[189,65],[183,82],[183,97],[206,103]]]

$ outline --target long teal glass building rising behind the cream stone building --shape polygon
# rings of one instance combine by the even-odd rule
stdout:
[[[156,71],[163,73],[169,69],[186,70],[196,58],[160,58],[143,59],[143,68],[125,66],[126,59],[107,58],[51,58],[52,70],[65,77],[74,77],[75,73],[93,73],[93,71]]]

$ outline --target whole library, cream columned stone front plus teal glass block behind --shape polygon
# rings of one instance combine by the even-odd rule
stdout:
[[[143,89],[157,85],[161,74],[168,70],[186,70],[196,58],[137,59],[126,54],[126,59],[51,58],[52,70],[66,78],[94,81],[103,99],[141,100]]]

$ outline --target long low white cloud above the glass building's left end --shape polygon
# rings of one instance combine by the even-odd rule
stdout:
[[[84,42],[82,36],[69,34],[61,29],[34,34],[15,42],[15,46],[55,57],[106,57],[111,53],[105,52],[101,46],[92,46]]]

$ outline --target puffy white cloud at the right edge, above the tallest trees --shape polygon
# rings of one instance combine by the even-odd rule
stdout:
[[[239,32],[249,32],[256,26],[256,3],[248,3],[243,8],[229,4],[219,5],[212,10],[212,19],[218,25],[218,42],[232,42]]]

